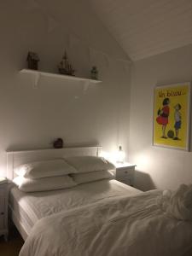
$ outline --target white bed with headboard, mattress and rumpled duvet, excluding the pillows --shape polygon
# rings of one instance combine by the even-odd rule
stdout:
[[[8,176],[13,179],[15,167],[26,162],[98,156],[100,150],[85,147],[9,152]],[[185,208],[176,208],[177,202],[172,202],[180,202],[187,192],[189,200],[190,189],[185,186],[175,194],[142,192],[111,178],[31,193],[13,186],[9,209],[25,240],[20,256],[192,255],[192,211],[189,208],[184,212]]]

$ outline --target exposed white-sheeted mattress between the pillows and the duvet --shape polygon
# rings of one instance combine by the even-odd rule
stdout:
[[[15,218],[28,235],[33,225],[40,218],[75,207],[89,205],[109,197],[136,195],[138,193],[141,193],[141,191],[114,179],[84,183],[72,189],[33,193],[24,193],[17,187],[13,187],[10,190],[9,205],[12,214],[15,215]]]

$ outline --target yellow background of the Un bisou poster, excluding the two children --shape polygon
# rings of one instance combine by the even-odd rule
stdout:
[[[163,101],[169,98],[169,116],[166,125],[166,138],[163,137],[162,125],[158,124],[158,111],[162,113]],[[181,128],[178,129],[178,139],[175,130],[175,106],[181,105],[179,114],[181,115]],[[168,85],[156,87],[154,90],[154,145],[162,145],[173,148],[188,148],[188,132],[189,132],[189,83]],[[174,135],[173,135],[174,133]]]

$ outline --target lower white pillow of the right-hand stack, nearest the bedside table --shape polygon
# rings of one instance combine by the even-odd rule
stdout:
[[[74,173],[70,175],[77,184],[90,183],[96,180],[104,178],[114,178],[113,171],[96,171],[96,172],[84,172],[84,173]]]

